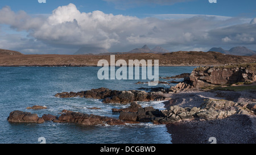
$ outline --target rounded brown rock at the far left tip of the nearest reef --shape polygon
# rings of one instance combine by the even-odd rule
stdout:
[[[37,114],[23,111],[11,112],[7,120],[13,123],[44,123],[44,119],[39,118]]]

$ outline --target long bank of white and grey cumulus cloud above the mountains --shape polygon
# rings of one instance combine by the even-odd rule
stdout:
[[[23,45],[17,43],[20,48],[35,43],[40,44],[40,47],[45,45],[60,51],[61,48],[96,47],[109,49],[110,52],[123,52],[144,44],[151,47],[161,45],[170,51],[233,44],[255,45],[255,19],[250,23],[244,21],[213,15],[140,19],[135,16],[105,14],[102,11],[80,12],[72,3],[57,7],[48,16],[14,12],[10,7],[0,9],[0,26],[5,24],[14,31],[26,31],[30,39],[36,40],[21,41]],[[1,36],[1,42],[5,43],[2,46],[15,45],[9,43],[9,38],[7,35]],[[36,48],[39,46],[34,45],[34,48],[38,51]],[[31,51],[31,45],[29,49]]]

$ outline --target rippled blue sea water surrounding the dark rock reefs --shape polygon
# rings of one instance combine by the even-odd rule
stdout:
[[[175,76],[190,73],[195,67],[160,67],[159,76]],[[112,108],[124,108],[119,104],[104,104],[101,100],[86,98],[56,98],[63,91],[82,91],[99,87],[113,90],[133,90],[149,87],[137,85],[147,80],[99,80],[98,67],[0,67],[0,143],[39,143],[45,137],[46,143],[171,143],[171,135],[165,125],[151,123],[84,127],[77,124],[45,122],[43,124],[9,123],[11,111],[20,110],[38,114],[60,116],[64,109],[118,118]],[[177,79],[178,81],[181,79]],[[158,85],[170,87],[170,85]],[[141,102],[142,106],[163,109],[161,102]],[[27,110],[28,106],[47,106],[46,110]],[[99,107],[101,110],[89,110]]]

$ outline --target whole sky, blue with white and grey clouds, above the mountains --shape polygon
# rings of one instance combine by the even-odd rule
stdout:
[[[1,0],[0,48],[27,54],[72,54],[81,47],[123,52],[144,44],[256,50],[255,6],[252,0]]]

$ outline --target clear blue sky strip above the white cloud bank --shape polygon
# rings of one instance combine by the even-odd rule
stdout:
[[[139,1],[139,0],[138,0]],[[131,4],[119,5],[114,1],[84,1],[84,0],[47,0],[47,3],[38,3],[37,0],[1,0],[0,6],[10,6],[12,10],[24,10],[28,14],[50,14],[58,6],[73,3],[82,12],[100,10],[106,14],[122,14],[144,18],[150,14],[207,14],[222,16],[256,16],[256,1],[253,0],[217,0],[217,3],[209,3],[208,0],[191,0],[188,2],[177,2],[170,5],[168,2],[150,3],[141,5]]]

